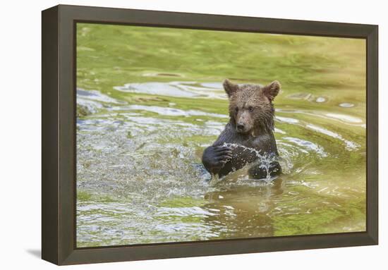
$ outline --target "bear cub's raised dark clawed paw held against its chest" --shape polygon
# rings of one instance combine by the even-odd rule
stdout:
[[[231,148],[224,145],[207,147],[203,152],[202,163],[210,173],[217,173],[232,157]]]

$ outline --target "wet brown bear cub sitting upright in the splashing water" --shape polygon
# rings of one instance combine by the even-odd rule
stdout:
[[[277,81],[269,85],[236,85],[224,81],[229,97],[229,123],[218,139],[207,147],[202,164],[212,175],[226,176],[250,164],[250,178],[277,176],[281,167],[274,138],[274,105],[280,90]]]

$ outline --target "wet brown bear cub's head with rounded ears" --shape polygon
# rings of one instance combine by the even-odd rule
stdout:
[[[236,131],[253,134],[274,129],[274,105],[272,101],[280,90],[275,80],[269,85],[237,85],[224,80],[224,89],[229,97],[229,116]]]

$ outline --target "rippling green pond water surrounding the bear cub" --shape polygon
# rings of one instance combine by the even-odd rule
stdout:
[[[284,174],[211,181],[222,81],[279,80]],[[365,40],[77,27],[77,247],[365,231]]]

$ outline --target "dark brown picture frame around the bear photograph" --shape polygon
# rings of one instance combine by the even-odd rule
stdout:
[[[366,39],[366,231],[77,248],[75,24],[145,25]],[[351,23],[59,5],[42,11],[42,259],[85,264],[378,243],[378,27]]]

